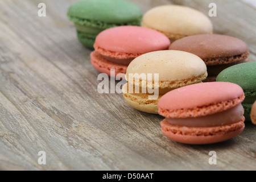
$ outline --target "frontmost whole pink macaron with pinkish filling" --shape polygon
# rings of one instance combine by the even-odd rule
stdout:
[[[160,98],[158,112],[167,138],[186,144],[222,142],[240,134],[245,125],[237,84],[204,82],[172,90]]]

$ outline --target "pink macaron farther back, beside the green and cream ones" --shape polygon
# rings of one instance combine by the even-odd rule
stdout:
[[[110,76],[126,73],[127,66],[143,53],[166,50],[171,42],[162,33],[138,26],[109,28],[98,34],[94,43],[95,51],[90,53],[94,68]]]

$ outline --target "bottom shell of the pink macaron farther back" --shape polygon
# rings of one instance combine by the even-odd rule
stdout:
[[[110,75],[110,69],[115,69],[115,77],[117,77],[119,73],[123,73],[122,78],[125,77],[125,73],[127,69],[126,65],[121,65],[121,64],[112,63],[110,61],[106,61],[96,51],[93,51],[90,53],[90,61],[93,67],[96,68],[101,73],[106,73],[108,76],[112,76]],[[120,76],[118,76],[117,78],[120,78]]]

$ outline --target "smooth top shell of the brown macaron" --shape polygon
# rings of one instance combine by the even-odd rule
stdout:
[[[187,36],[176,40],[169,49],[190,52],[201,59],[216,58],[217,63],[222,57],[237,56],[248,52],[247,45],[242,40],[217,34]]]

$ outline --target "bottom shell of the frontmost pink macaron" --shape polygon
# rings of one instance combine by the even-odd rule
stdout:
[[[188,128],[177,127],[170,125],[165,119],[160,123],[162,127],[162,133],[167,138],[180,143],[186,144],[210,144],[223,142],[225,140],[236,137],[240,134],[245,125],[242,121],[234,123],[232,125],[218,126],[218,127],[201,127],[201,128]],[[195,132],[194,134],[184,134],[187,131]],[[208,133],[207,135],[201,135],[201,133]],[[213,134],[214,133],[214,134]]]

